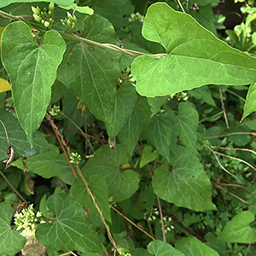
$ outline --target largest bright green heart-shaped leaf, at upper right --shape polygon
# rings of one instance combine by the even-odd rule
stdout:
[[[161,44],[166,55],[141,55],[131,65],[137,91],[143,96],[165,96],[204,84],[251,84],[256,59],[215,38],[190,15],[166,3],[148,8],[143,37]]]

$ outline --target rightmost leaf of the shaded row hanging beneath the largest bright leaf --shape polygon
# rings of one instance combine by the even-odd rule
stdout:
[[[198,113],[191,102],[180,102],[175,122],[175,131],[184,146],[195,148],[197,142]]]

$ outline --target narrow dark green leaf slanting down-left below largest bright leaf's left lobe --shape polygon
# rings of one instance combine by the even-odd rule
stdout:
[[[143,127],[150,121],[150,109],[147,99],[137,96],[137,103],[125,125],[119,131],[119,140],[129,155],[135,148]]]

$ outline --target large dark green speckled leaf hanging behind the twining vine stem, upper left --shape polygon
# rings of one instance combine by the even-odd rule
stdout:
[[[116,43],[113,26],[99,15],[84,19],[84,37],[99,43]],[[97,119],[107,123],[112,120],[119,77],[118,60],[119,55],[107,49],[68,43],[58,70],[58,79],[90,108]]]

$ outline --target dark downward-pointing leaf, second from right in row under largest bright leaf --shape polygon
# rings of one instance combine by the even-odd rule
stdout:
[[[168,161],[170,161],[174,119],[174,113],[171,109],[168,109],[159,116],[155,116],[144,129],[148,140]]]

